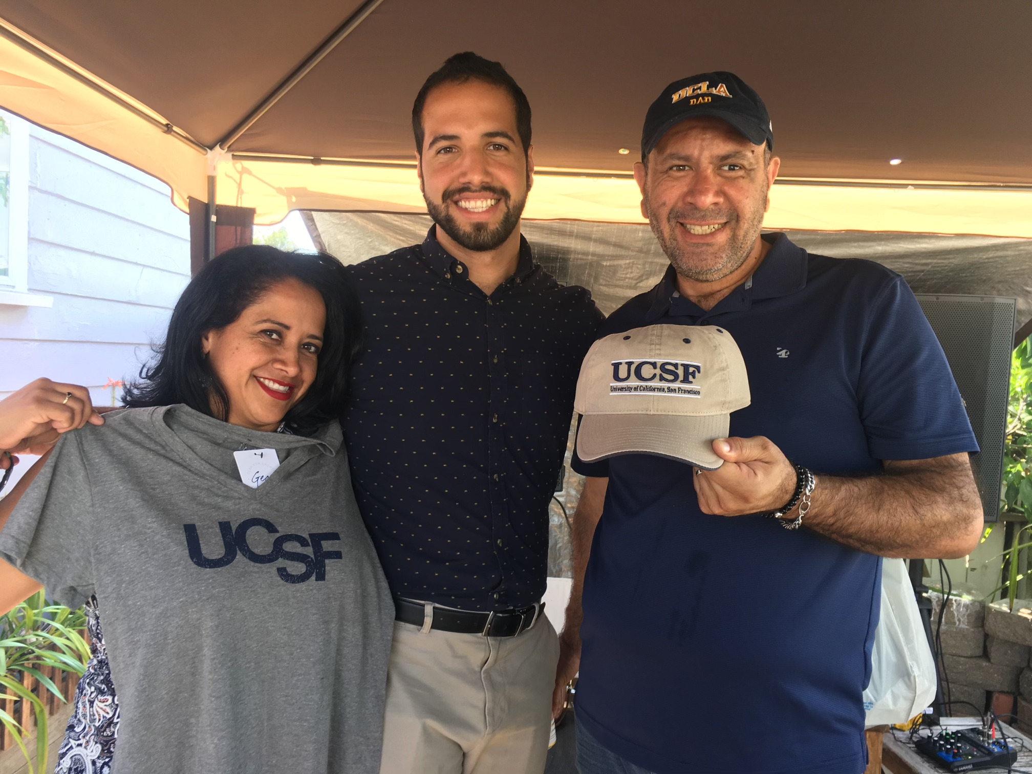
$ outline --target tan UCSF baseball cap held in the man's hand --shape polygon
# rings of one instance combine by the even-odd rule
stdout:
[[[715,471],[713,441],[749,405],[738,345],[712,325],[648,325],[600,338],[577,380],[577,454],[585,462],[656,454]]]

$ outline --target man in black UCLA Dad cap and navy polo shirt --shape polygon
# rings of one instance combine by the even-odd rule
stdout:
[[[555,703],[579,666],[582,774],[858,774],[879,557],[978,540],[977,446],[916,300],[878,264],[761,234],[772,151],[730,72],[671,84],[645,119],[635,179],[671,265],[600,336],[718,326],[751,405],[714,471],[574,461],[589,478]]]

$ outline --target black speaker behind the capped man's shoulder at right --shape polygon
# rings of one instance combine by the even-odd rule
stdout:
[[[981,450],[971,457],[986,521],[1000,514],[1003,437],[1010,394],[1014,299],[978,295],[917,295],[946,353]]]

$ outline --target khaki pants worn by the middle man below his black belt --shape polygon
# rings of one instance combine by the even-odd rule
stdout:
[[[558,657],[544,613],[518,637],[395,621],[380,774],[541,774]]]

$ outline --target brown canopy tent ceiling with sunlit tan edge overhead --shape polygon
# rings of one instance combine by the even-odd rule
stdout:
[[[289,208],[422,209],[412,99],[472,49],[504,62],[534,106],[536,160],[550,169],[528,217],[640,222],[628,173],[648,103],[677,77],[732,69],[768,103],[787,182],[874,185],[779,187],[767,225],[1032,236],[1024,0],[991,17],[967,0],[743,0],[733,14],[684,0],[475,11],[456,0],[0,0],[0,105],[157,174],[181,206],[205,198],[215,170],[218,200],[264,222]],[[249,124],[334,30],[347,35]],[[220,142],[233,158],[209,154],[209,167],[203,151]]]

